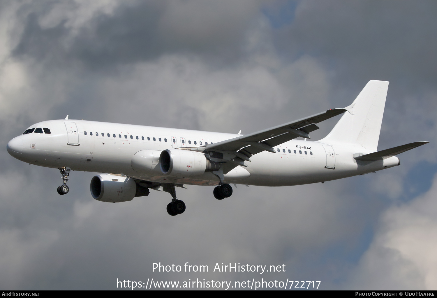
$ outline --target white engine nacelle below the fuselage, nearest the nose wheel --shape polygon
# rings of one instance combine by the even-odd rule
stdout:
[[[101,202],[131,201],[135,196],[147,196],[149,189],[139,186],[134,179],[115,175],[96,175],[91,179],[91,195]]]

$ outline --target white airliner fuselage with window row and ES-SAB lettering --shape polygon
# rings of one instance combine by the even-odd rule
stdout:
[[[31,128],[49,128],[50,133],[28,133],[12,139],[7,148],[12,156],[26,163],[51,168],[69,167],[75,171],[117,173],[156,183],[218,185],[212,172],[191,177],[163,175],[159,166],[141,173],[132,159],[142,150],[205,146],[239,135],[127,125],[84,120],[52,120]],[[371,162],[357,161],[354,154],[368,150],[353,144],[326,144],[293,139],[274,146],[273,152],[260,152],[226,173],[225,183],[259,186],[288,186],[320,183],[370,173],[399,165],[392,156]],[[214,152],[208,158],[214,160]],[[155,166],[155,165],[154,165]]]

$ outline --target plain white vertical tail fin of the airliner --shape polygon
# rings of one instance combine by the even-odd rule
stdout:
[[[387,89],[387,81],[369,81],[352,105],[345,108],[347,112],[333,130],[320,141],[356,144],[376,151]]]

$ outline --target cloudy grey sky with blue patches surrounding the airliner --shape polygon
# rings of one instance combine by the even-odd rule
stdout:
[[[321,289],[437,288],[435,1],[0,2],[0,288],[104,289],[119,280],[321,281]],[[29,125],[87,119],[250,133],[390,81],[378,149],[401,166],[325,184],[187,186],[94,200],[94,173],[6,151]],[[322,123],[322,138],[338,118]],[[152,272],[152,264],[208,273]],[[285,272],[212,272],[216,263]]]

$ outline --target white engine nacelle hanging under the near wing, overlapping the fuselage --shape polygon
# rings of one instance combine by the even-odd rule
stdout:
[[[191,177],[220,168],[218,163],[206,159],[205,154],[182,149],[166,149],[160,155],[160,169],[164,175]]]

